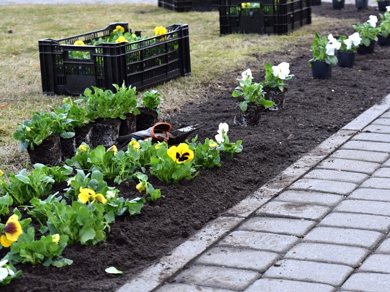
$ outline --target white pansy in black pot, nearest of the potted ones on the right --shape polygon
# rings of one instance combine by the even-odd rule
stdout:
[[[337,65],[335,50],[341,46],[339,42],[329,34],[326,37],[320,37],[317,31],[314,31],[315,39],[312,44],[311,52],[313,58],[309,60],[309,67],[312,69],[313,79],[328,79],[332,76],[332,65]]]

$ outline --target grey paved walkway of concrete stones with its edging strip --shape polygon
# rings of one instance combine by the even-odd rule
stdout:
[[[390,292],[390,94],[117,292]]]

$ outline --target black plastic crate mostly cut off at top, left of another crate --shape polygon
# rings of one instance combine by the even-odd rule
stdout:
[[[176,11],[218,11],[219,0],[158,0],[158,7]]]

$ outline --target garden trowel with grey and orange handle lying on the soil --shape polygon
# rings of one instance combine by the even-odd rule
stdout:
[[[152,143],[156,143],[157,141],[165,141],[168,145],[178,144],[184,142],[189,134],[193,133],[202,126],[203,125],[200,124],[194,124],[171,131],[172,126],[169,123],[156,123],[145,130],[125,136],[119,136],[116,139],[117,148],[118,150],[126,151],[127,144],[130,143],[133,138],[136,140],[146,140],[151,138]]]

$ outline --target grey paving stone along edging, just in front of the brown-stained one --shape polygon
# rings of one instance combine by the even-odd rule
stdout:
[[[316,224],[302,219],[254,217],[246,220],[239,230],[260,231],[302,237]]]

